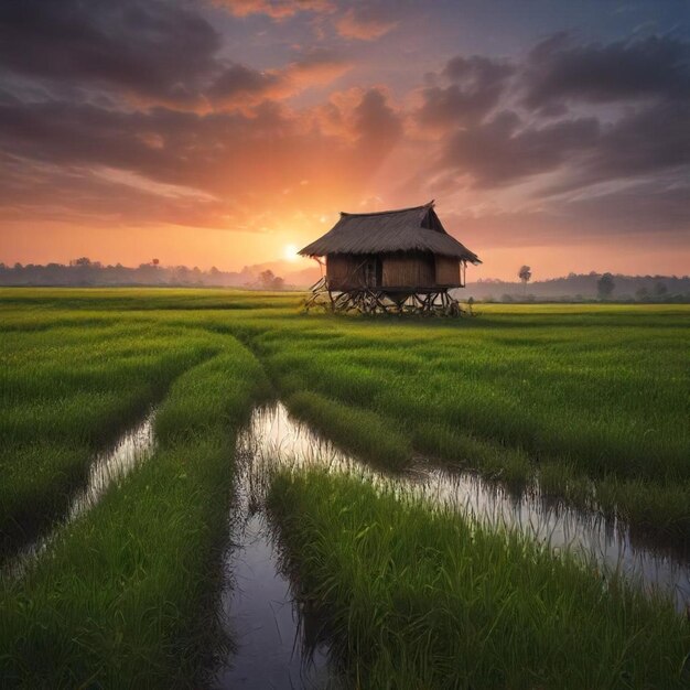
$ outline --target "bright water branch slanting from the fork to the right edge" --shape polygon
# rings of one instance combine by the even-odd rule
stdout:
[[[255,410],[238,440],[241,455],[251,459],[245,490],[261,504],[277,466],[328,467],[371,481],[381,490],[429,500],[489,526],[515,527],[553,550],[569,549],[594,561],[603,572],[619,572],[646,589],[672,592],[677,607],[690,602],[690,559],[634,543],[629,530],[594,510],[583,511],[545,500],[538,490],[520,499],[468,472],[419,462],[401,476],[387,476],[338,451],[332,443],[290,417],[278,403]]]

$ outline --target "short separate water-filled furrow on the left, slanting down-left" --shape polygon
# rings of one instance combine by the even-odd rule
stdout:
[[[75,493],[64,519],[48,533],[22,547],[19,553],[7,564],[6,572],[11,576],[21,576],[66,525],[90,510],[112,483],[120,481],[137,464],[153,453],[155,446],[154,419],[155,409],[151,410],[137,425],[127,430],[108,450],[96,455],[88,471],[86,486]]]

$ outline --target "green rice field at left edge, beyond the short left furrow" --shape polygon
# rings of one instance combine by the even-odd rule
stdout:
[[[0,557],[58,518],[95,454],[159,401],[182,371],[217,351],[207,336],[140,322],[6,335]]]

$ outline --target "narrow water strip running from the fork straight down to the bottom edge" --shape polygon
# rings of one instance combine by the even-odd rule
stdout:
[[[327,648],[316,642],[320,626],[293,594],[265,511],[269,477],[260,467],[272,446],[258,420],[266,413],[257,409],[237,441],[228,576],[220,597],[220,618],[234,648],[212,687],[335,688]]]

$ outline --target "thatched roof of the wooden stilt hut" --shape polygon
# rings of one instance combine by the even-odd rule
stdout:
[[[433,201],[423,206],[341,213],[341,219],[323,237],[300,251],[304,257],[328,254],[382,254],[389,251],[431,251],[445,257],[482,263],[446,231],[433,209]]]

